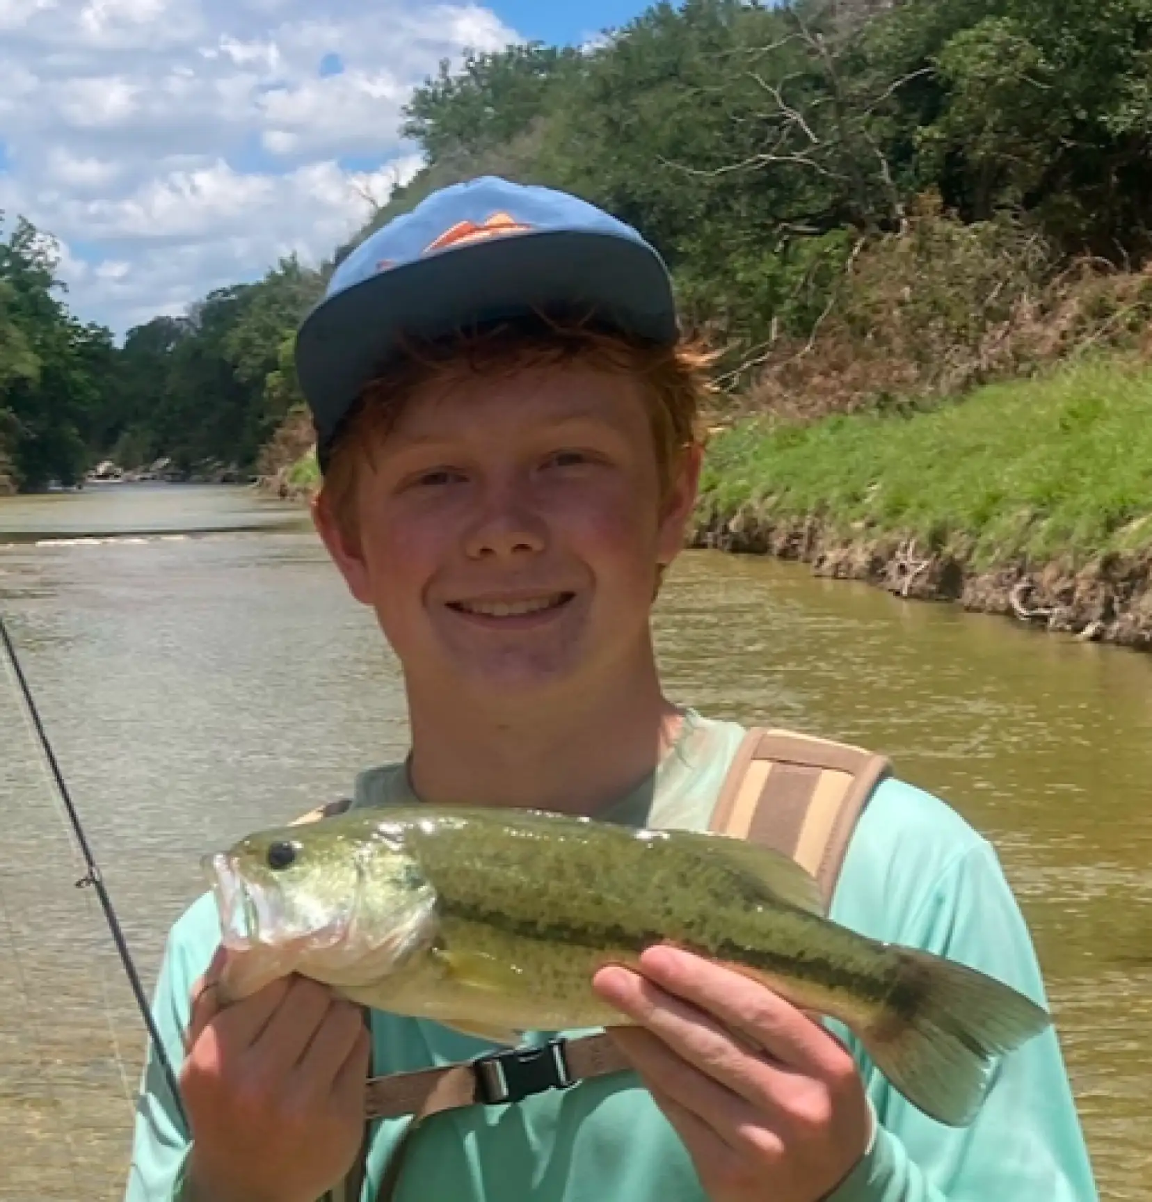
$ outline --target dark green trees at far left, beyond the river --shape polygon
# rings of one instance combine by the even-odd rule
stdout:
[[[321,273],[283,260],[117,349],[69,314],[57,266],[55,243],[26,220],[0,242],[0,484],[72,484],[106,456],[126,469],[166,457],[178,472],[251,470],[301,400],[292,335]]]

